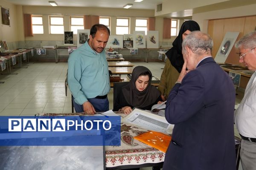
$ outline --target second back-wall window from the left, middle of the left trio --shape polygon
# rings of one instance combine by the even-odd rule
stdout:
[[[62,16],[49,16],[50,34],[64,34]]]

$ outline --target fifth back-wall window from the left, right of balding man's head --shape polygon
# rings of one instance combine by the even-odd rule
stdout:
[[[116,18],[116,35],[129,34],[130,18]]]

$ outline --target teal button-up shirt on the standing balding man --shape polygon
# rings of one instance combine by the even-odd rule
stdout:
[[[97,53],[88,41],[77,48],[68,59],[68,87],[77,104],[104,96],[110,91],[108,61],[105,51]]]

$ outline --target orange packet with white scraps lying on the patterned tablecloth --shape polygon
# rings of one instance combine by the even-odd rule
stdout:
[[[166,150],[172,140],[172,136],[150,130],[146,133],[140,134],[139,136],[135,136],[134,139],[166,153]]]

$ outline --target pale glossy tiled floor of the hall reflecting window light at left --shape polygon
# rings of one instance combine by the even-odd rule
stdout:
[[[144,65],[155,77],[161,77],[164,62],[132,62],[135,66]],[[0,116],[35,113],[71,113],[71,93],[65,96],[64,82],[67,74],[67,62],[29,63],[28,68],[12,69],[10,75],[0,75]],[[243,93],[238,92],[239,103]],[[113,89],[108,94],[110,109],[113,108]],[[235,127],[235,133],[238,132]],[[241,167],[239,168],[239,170]],[[151,170],[141,168],[141,170]]]

